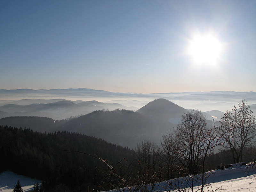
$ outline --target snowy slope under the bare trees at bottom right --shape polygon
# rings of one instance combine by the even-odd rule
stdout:
[[[211,172],[207,172],[207,186],[204,187],[204,191],[232,191],[232,192],[256,192],[256,168],[255,166],[249,165],[240,165],[241,163],[232,164],[232,167],[227,168],[225,170],[213,170]],[[201,175],[197,176],[200,178]],[[170,191],[170,187],[168,185],[172,182],[172,185],[176,188],[181,188],[181,186],[186,186],[188,183],[188,177],[186,178],[178,178],[174,180],[170,180],[167,182],[161,182],[154,186],[154,191],[157,192],[174,192],[174,190]],[[200,182],[200,179],[199,179]],[[170,185],[169,185],[170,186]],[[208,187],[208,189],[207,189]],[[148,186],[148,190],[150,191],[151,187]],[[168,190],[169,189],[169,190]],[[198,191],[200,189],[200,183],[194,183],[194,190]],[[128,190],[125,190],[128,191]],[[184,188],[184,191],[190,192],[190,188]],[[201,190],[200,190],[201,191]],[[115,190],[108,191],[115,192]]]

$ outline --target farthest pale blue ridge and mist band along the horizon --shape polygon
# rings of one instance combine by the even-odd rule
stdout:
[[[186,109],[198,109],[201,111],[227,111],[231,110],[234,103],[242,99],[248,100],[248,104],[256,104],[256,92],[233,92],[233,91],[209,91],[209,92],[169,92],[169,93],[129,93],[108,92],[88,88],[78,89],[0,89],[0,105],[4,100],[21,99],[53,99],[65,100],[98,100],[104,103],[119,104],[127,107],[141,108],[148,102],[164,98]],[[132,100],[132,102],[128,102]],[[7,104],[7,103],[6,103]],[[18,103],[17,103],[18,104]]]

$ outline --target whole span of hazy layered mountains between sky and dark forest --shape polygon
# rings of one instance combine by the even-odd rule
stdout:
[[[256,109],[255,92],[142,94],[84,88],[0,89],[0,97],[0,125],[29,127],[38,132],[79,132],[130,148],[145,139],[159,144],[164,132],[172,131],[183,113],[201,110],[200,106],[208,109],[201,111],[205,111],[209,124],[220,120],[223,111],[231,110],[242,99]],[[100,101],[84,101],[95,98]]]

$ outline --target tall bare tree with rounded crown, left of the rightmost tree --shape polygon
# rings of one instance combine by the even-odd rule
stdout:
[[[193,192],[194,183],[201,180],[201,191],[205,185],[205,159],[212,153],[219,139],[216,138],[215,126],[209,128],[206,118],[202,112],[197,110],[183,114],[180,123],[175,129],[176,150],[179,158],[181,171],[189,175],[191,181],[188,182]],[[198,175],[202,173],[201,176]],[[195,175],[197,175],[195,177]]]

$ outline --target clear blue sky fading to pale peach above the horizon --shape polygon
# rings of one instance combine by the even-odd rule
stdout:
[[[256,92],[255,34],[250,0],[0,1],[0,89]]]

